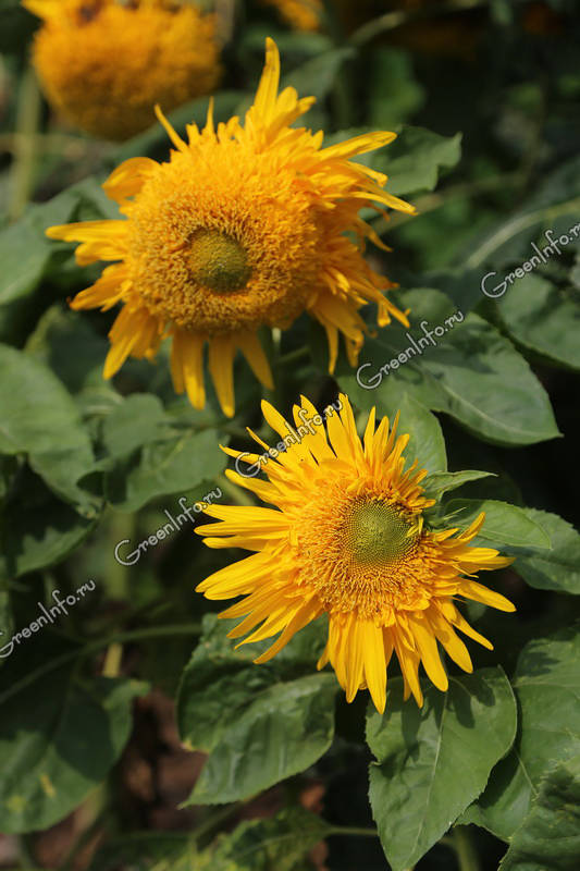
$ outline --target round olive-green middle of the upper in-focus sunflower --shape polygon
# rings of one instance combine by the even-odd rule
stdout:
[[[198,230],[190,240],[187,261],[193,279],[217,293],[242,291],[251,275],[239,242],[219,230]]]

